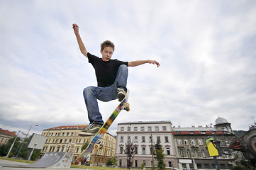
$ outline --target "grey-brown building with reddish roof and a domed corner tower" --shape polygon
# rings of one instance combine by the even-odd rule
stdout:
[[[179,169],[216,169],[213,157],[208,154],[206,139],[216,137],[223,155],[218,157],[221,169],[232,169],[238,152],[228,149],[235,138],[230,123],[224,118],[217,118],[212,127],[172,128]]]

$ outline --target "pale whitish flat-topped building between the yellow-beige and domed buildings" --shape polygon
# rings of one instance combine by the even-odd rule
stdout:
[[[124,153],[126,142],[133,142],[136,154],[133,157],[133,168],[140,168],[142,164],[152,167],[152,145],[160,142],[166,154],[165,164],[167,167],[177,168],[177,158],[172,137],[172,123],[170,121],[155,122],[128,122],[118,123],[116,137],[116,157],[119,167],[127,166],[127,155]]]

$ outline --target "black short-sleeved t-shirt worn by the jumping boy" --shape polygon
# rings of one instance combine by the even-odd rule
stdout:
[[[108,62],[104,62],[101,58],[91,55],[89,52],[87,56],[89,63],[91,63],[95,69],[98,86],[101,87],[111,86],[115,82],[118,68],[121,64],[126,64],[128,66],[128,62],[119,60],[109,60]]]

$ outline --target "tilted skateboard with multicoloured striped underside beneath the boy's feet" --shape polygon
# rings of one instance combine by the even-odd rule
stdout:
[[[84,152],[79,155],[78,159],[81,159],[81,158],[91,154],[93,149],[98,150],[98,149],[102,149],[104,147],[101,143],[101,138],[106,133],[108,128],[111,126],[111,124],[113,123],[113,120],[116,119],[116,117],[122,110],[130,111],[130,104],[127,103],[129,94],[130,94],[130,91],[128,90],[126,93],[126,96],[123,98],[123,101],[121,101],[121,103],[119,103],[119,105],[116,107],[115,111],[113,111],[113,113],[109,116],[109,118],[106,120],[104,125],[102,125],[101,129],[96,133],[94,138],[92,138],[91,142],[89,143],[87,148],[84,150]]]

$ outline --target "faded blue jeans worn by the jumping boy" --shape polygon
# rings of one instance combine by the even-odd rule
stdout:
[[[108,87],[89,86],[84,89],[84,101],[87,106],[88,118],[90,123],[104,124],[101,113],[99,112],[98,100],[112,101],[117,99],[117,88],[126,89],[128,78],[128,68],[121,65],[118,69],[115,82]]]

